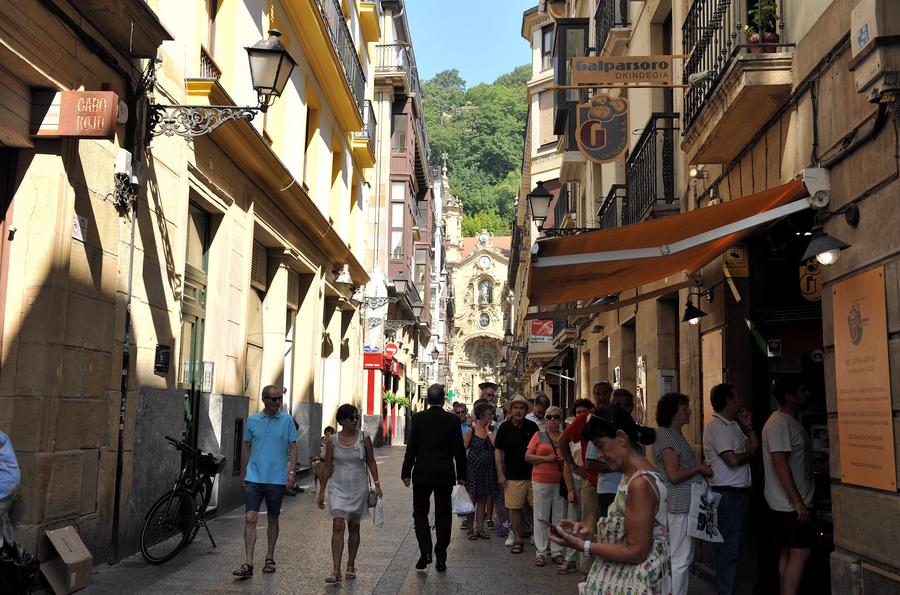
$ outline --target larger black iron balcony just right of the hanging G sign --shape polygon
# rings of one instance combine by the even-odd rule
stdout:
[[[622,225],[677,213],[675,134],[679,115],[651,114],[644,132],[625,162],[628,186]]]

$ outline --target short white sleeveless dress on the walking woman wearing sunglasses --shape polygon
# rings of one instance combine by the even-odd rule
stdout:
[[[360,433],[360,439],[353,446],[343,446],[336,433],[331,437],[334,470],[328,481],[328,508],[332,519],[358,523],[369,514],[369,470],[364,439],[365,435]]]

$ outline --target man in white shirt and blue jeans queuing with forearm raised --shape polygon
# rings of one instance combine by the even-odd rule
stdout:
[[[759,448],[759,438],[734,385],[717,384],[709,398],[715,413],[703,432],[703,454],[713,469],[709,483],[720,496],[717,519],[723,539],[716,549],[716,583],[719,595],[731,595],[750,506],[749,463]]]

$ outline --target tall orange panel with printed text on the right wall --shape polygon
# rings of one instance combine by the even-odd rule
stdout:
[[[841,481],[897,489],[884,267],[832,287]]]

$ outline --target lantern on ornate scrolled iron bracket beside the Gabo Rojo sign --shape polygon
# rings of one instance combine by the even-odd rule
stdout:
[[[278,38],[281,32],[269,30],[269,37],[244,48],[250,60],[250,79],[256,91],[256,106],[237,105],[161,105],[150,104],[151,136],[180,136],[186,140],[209,134],[231,120],[252,120],[265,112],[280,97],[297,63]],[[156,80],[156,62],[151,61],[151,88]]]

